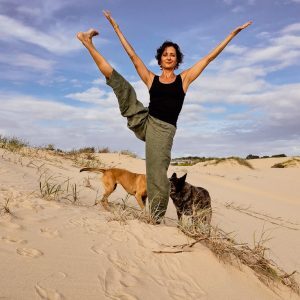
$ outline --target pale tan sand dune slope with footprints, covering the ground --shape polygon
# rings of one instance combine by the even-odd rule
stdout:
[[[145,171],[143,160],[118,154],[99,157],[106,166]],[[251,241],[263,225],[272,229],[273,258],[288,270],[299,270],[300,169],[253,163],[255,170],[236,165],[171,167],[170,175],[187,171],[190,183],[206,187],[213,199],[213,222],[234,230],[238,239]],[[109,221],[110,213],[93,206],[102,193],[100,176],[79,173],[70,160],[0,150],[0,176],[0,203],[9,199],[12,212],[0,215],[1,299],[299,299],[287,289],[271,291],[250,269],[223,264],[200,244],[191,252],[154,253],[171,251],[172,245],[188,239],[170,219],[159,226]],[[42,199],[39,182],[49,176],[61,183],[70,178],[70,187],[76,183],[80,202],[67,200],[72,200],[70,190],[61,195],[65,201]],[[125,196],[117,188],[110,200]],[[251,205],[256,217],[268,217],[260,220],[226,208],[227,202]],[[134,198],[128,203],[136,206]],[[171,202],[167,215],[175,219]]]

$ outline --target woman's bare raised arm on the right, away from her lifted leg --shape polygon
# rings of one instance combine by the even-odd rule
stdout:
[[[181,77],[183,80],[183,89],[186,92],[189,85],[202,73],[202,71],[207,67],[207,65],[213,61],[228,45],[228,43],[243,29],[250,26],[251,21],[245,23],[242,26],[237,27],[233,30],[215,49],[213,49],[208,55],[199,60],[191,68],[183,71]]]

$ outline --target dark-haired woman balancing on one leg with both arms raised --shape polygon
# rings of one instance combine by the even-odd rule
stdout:
[[[207,56],[179,75],[175,75],[174,71],[182,62],[181,51],[177,44],[165,42],[157,49],[156,58],[162,70],[161,75],[157,76],[148,70],[135,53],[111,14],[104,11],[104,15],[113,26],[137,73],[149,90],[149,108],[144,107],[137,100],[133,87],[96,50],[92,43],[92,38],[98,34],[96,30],[79,32],[77,37],[106,77],[107,84],[113,88],[119,101],[121,114],[127,118],[128,127],[139,139],[145,141],[149,207],[153,218],[159,223],[165,215],[169,201],[170,183],[167,171],[171,161],[176,121],[188,87],[226,45],[251,22],[236,28]]]

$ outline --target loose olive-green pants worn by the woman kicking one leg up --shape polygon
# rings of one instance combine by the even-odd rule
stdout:
[[[138,101],[131,84],[113,71],[107,84],[116,94],[120,111],[127,118],[127,126],[146,145],[146,176],[149,207],[160,219],[167,210],[170,182],[167,171],[176,127],[149,115],[147,107]]]

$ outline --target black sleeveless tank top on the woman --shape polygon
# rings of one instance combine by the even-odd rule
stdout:
[[[185,97],[181,76],[172,83],[161,83],[155,75],[149,93],[149,114],[176,127]]]

